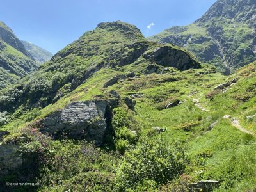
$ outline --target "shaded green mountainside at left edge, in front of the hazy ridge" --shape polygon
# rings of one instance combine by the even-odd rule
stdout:
[[[4,22],[0,22],[0,90],[35,71],[38,64]]]

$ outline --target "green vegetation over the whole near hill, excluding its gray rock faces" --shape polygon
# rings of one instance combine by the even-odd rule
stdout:
[[[117,30],[116,25],[118,25]],[[183,175],[181,177],[189,178],[189,182],[219,180],[221,185],[216,191],[255,190],[256,159],[253,134],[256,134],[256,118],[253,115],[256,113],[256,63],[246,65],[232,76],[223,76],[215,72],[211,65],[188,70],[164,67],[168,70],[163,68],[158,72],[147,74],[145,67],[153,62],[152,60],[139,57],[134,61],[131,57],[129,61],[133,62],[125,62],[124,66],[121,63],[125,60],[120,63],[120,58],[134,52],[134,49],[139,49],[129,47],[129,43],[133,43],[134,39],[137,39],[141,46],[148,45],[146,54],[154,51],[156,47],[167,46],[148,43],[140,34],[134,26],[122,22],[100,24],[97,29],[86,33],[60,51],[49,63],[45,63],[38,73],[1,92],[1,109],[3,111],[6,109],[3,108],[4,102],[13,109],[7,114],[1,111],[3,123],[0,129],[11,132],[10,136],[4,138],[4,142],[19,143],[20,137],[28,137],[29,140],[25,143],[20,141],[21,152],[26,154],[32,151],[42,157],[41,161],[38,161],[42,162],[40,172],[36,178],[33,177],[41,185],[33,189],[35,191],[171,191],[169,189],[175,190],[183,185],[177,186],[176,183],[179,182],[176,179],[179,178],[180,173]],[[172,45],[168,46],[172,47]],[[172,49],[180,48],[172,47]],[[78,77],[84,77],[81,71],[104,61],[107,61],[105,64],[108,67],[102,67],[93,72],[92,76],[85,80],[82,78],[78,81],[80,83],[76,83]],[[67,78],[70,76],[68,72],[73,74],[70,79]],[[136,72],[137,77],[119,80],[116,84],[104,87],[112,77],[128,72]],[[56,78],[54,83],[51,82],[51,78]],[[236,78],[237,81],[233,81]],[[219,84],[230,81],[234,84],[230,83],[230,86],[223,90],[216,89]],[[63,95],[52,102],[57,92],[51,92],[52,85],[56,86],[56,84],[58,84],[56,89]],[[114,116],[111,123],[115,128],[115,134],[111,135],[113,143],[106,140],[105,145],[99,149],[86,145],[83,141],[67,141],[64,138],[60,141],[45,139],[42,134],[36,132],[38,128],[36,124],[32,125],[35,129],[29,131],[31,122],[36,122],[72,102],[95,100],[99,97],[108,98],[111,90],[118,92],[121,98],[129,97],[136,101],[134,111],[127,108],[124,103],[113,109]],[[19,95],[20,100],[6,92]],[[38,93],[36,99],[35,93]],[[180,104],[166,108],[175,100],[180,100]],[[228,115],[230,117],[227,117]],[[234,123],[235,118],[237,119]],[[216,124],[209,130],[214,122]],[[118,127],[121,125],[122,127]],[[165,131],[157,134],[153,127]],[[134,130],[137,132],[135,135],[132,132]],[[246,131],[250,132],[246,133]],[[144,141],[143,137],[149,141]],[[174,153],[175,150],[169,150],[168,147],[173,146],[176,140],[186,143],[186,154],[190,161],[186,164],[186,169],[180,168],[182,171],[175,177],[162,178],[160,167],[163,164],[165,168],[168,162],[164,158],[157,159],[158,152]],[[164,148],[161,148],[159,143]],[[47,147],[42,147],[45,145]],[[148,156],[147,151],[143,151],[143,146],[150,148],[151,145],[155,147],[148,150],[151,153]],[[157,148],[161,150],[158,151]],[[140,157],[141,151],[145,153],[145,156],[142,156],[145,159]],[[182,150],[178,151],[182,152]],[[177,156],[181,156],[179,152]],[[138,161],[131,160],[133,157],[138,157]],[[144,161],[148,162],[147,158],[151,157],[150,166],[156,168],[154,172],[159,175],[144,177],[144,180],[134,182],[130,188],[130,180],[122,180],[123,176],[129,179],[129,175],[123,173],[132,171],[132,174],[138,176],[137,180],[140,179],[140,174],[150,175],[151,173],[143,173],[143,168],[147,165],[141,167],[140,165]],[[129,161],[135,161],[139,171],[132,170],[129,163],[125,164]],[[183,161],[180,160],[180,163]],[[163,173],[166,172],[163,170]],[[170,175],[173,172],[169,170],[167,173]],[[166,182],[168,178],[170,183]]]

